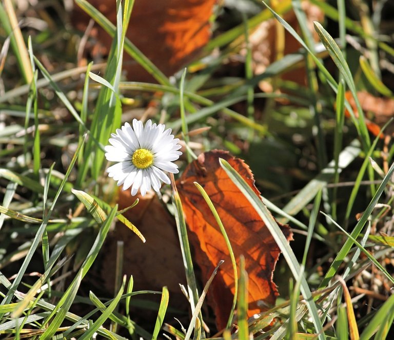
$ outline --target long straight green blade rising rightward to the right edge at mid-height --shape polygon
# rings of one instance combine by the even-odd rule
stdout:
[[[388,181],[390,180],[390,177],[393,172],[394,172],[394,163],[391,164],[391,167],[390,167],[388,173],[386,174],[386,177],[383,179],[382,183],[378,187],[377,192],[375,193],[372,200],[370,201],[370,203],[366,207],[360,220],[357,222],[356,226],[354,226],[354,229],[350,234],[352,239],[356,239],[360,235],[365,223],[367,222],[369,216],[372,213],[372,210],[375,208],[380,196],[382,195],[383,191],[385,190],[385,187],[386,187]],[[328,285],[328,282],[331,280],[331,278],[337,273],[337,270],[339,269],[342,261],[349,253],[352,244],[353,244],[353,241],[350,238],[348,238],[346,240],[345,244],[342,246],[341,250],[338,252],[336,258],[332,261],[330,268],[328,269],[326,275],[324,276],[324,279],[322,280],[322,282],[320,284],[320,288],[326,287]]]

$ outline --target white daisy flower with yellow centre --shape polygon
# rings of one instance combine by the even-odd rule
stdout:
[[[117,162],[107,169],[109,177],[123,184],[123,190],[131,186],[131,195],[140,189],[141,195],[152,187],[159,192],[161,182],[170,184],[170,179],[164,173],[177,174],[178,165],[172,163],[182,152],[179,139],[171,135],[171,129],[165,130],[164,124],[152,124],[148,120],[144,125],[134,119],[133,126],[125,123],[116,134],[111,134],[105,147],[105,157],[108,161]]]

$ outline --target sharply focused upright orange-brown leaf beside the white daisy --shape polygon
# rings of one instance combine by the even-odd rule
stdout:
[[[222,329],[226,326],[233,299],[233,269],[219,226],[193,182],[200,183],[212,200],[230,239],[235,258],[239,259],[241,254],[245,256],[249,275],[249,316],[275,303],[278,290],[272,281],[272,274],[280,250],[258,213],[220,166],[219,158],[227,160],[255,194],[260,196],[249,166],[221,150],[201,154],[185,169],[176,181],[176,186],[186,222],[192,231],[190,241],[203,280],[207,281],[217,263],[225,260],[207,295],[216,324]],[[286,238],[292,239],[290,228],[287,225],[281,225],[281,228]]]

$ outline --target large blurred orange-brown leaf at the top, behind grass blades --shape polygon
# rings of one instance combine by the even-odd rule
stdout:
[[[209,18],[216,0],[150,0],[136,1],[130,17],[127,37],[164,74],[172,75],[195,58],[210,37]],[[116,23],[113,0],[89,0],[112,23]],[[78,7],[72,16],[74,26],[85,31],[89,17]],[[93,44],[95,53],[108,53],[112,39],[100,27],[91,32],[102,44]],[[128,79],[151,81],[152,77],[125,54],[124,69]]]

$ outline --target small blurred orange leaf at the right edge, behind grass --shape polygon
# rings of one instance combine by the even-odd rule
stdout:
[[[365,119],[365,123],[369,132],[378,136],[381,126],[387,123],[391,117],[394,117],[394,99],[375,97],[367,91],[357,92],[357,97],[360,101],[361,108],[366,112],[372,112],[373,117],[371,119]],[[359,112],[357,110],[356,101],[354,101],[350,91],[345,92],[345,98],[353,109],[354,116],[358,118]],[[345,110],[345,116],[350,117],[348,110]],[[391,135],[392,133],[393,127],[388,126],[385,130],[385,134]],[[382,135],[381,138],[384,138],[384,135]]]

